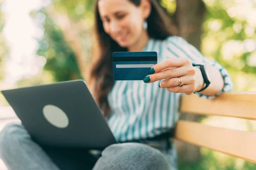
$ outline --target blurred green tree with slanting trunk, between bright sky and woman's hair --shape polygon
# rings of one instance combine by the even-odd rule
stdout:
[[[92,6],[90,0],[55,0],[40,11],[47,16],[44,40],[40,40],[40,44],[48,43],[49,48],[40,49],[38,54],[48,56],[45,68],[55,74],[56,80],[86,79],[93,43]],[[63,69],[59,70],[60,67]]]

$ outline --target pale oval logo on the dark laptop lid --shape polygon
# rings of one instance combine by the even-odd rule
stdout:
[[[56,127],[65,128],[69,124],[66,113],[55,105],[45,105],[43,113],[47,121]]]

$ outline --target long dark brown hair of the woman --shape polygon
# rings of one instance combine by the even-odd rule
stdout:
[[[129,0],[135,6],[140,6],[141,0]],[[164,40],[172,35],[172,24],[166,11],[156,0],[151,1],[151,14],[147,18],[148,35],[151,38]],[[127,51],[119,46],[107,33],[105,33],[102,20],[99,16],[98,2],[95,2],[95,44],[90,65],[89,84],[93,97],[105,116],[110,112],[108,93],[113,88],[112,54],[115,51]]]

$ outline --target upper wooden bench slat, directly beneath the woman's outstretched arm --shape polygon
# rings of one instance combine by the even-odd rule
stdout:
[[[256,93],[225,93],[215,99],[203,99],[195,94],[183,95],[180,111],[256,120]]]

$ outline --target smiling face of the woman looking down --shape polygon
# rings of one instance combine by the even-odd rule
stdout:
[[[143,5],[129,0],[99,0],[103,28],[122,47],[130,47],[141,37],[146,12]]]

